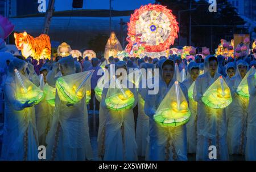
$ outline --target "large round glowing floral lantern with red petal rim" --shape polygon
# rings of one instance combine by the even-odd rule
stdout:
[[[127,35],[140,35],[145,55],[165,55],[179,32],[176,17],[166,6],[146,5],[131,14]],[[134,42],[129,42],[130,47]]]

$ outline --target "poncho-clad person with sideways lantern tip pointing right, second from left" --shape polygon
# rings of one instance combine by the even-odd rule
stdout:
[[[60,65],[67,66],[61,78],[55,78],[57,70],[53,68],[47,75],[48,84],[60,81],[56,89],[55,110],[52,126],[46,137],[47,160],[92,160],[93,153],[90,145],[88,112],[86,108],[85,90],[89,90],[85,80],[87,73],[81,78],[81,73],[75,74],[75,64],[72,57],[65,57],[59,61]],[[84,84],[77,84],[75,81]],[[55,85],[52,85],[55,87]],[[76,88],[75,88],[75,87]],[[79,87],[81,88],[79,89]],[[74,94],[74,90],[75,93]],[[78,91],[77,91],[78,90]],[[67,94],[65,94],[67,93]],[[61,96],[60,96],[61,95]],[[69,95],[71,97],[67,98]],[[72,102],[70,102],[72,100]],[[72,105],[68,105],[71,104]]]

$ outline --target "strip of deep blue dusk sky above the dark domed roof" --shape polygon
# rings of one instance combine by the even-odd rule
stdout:
[[[148,3],[155,3],[155,0],[113,0],[112,8],[113,10],[135,10]],[[109,9],[109,0],[84,0],[83,9]],[[72,0],[56,0],[55,10],[72,10]]]

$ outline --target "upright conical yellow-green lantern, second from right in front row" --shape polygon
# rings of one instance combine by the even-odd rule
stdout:
[[[214,81],[207,91],[205,91],[202,101],[205,105],[214,109],[223,109],[231,104],[232,97],[230,89],[222,76]]]

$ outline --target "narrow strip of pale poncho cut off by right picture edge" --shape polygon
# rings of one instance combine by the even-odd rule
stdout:
[[[256,79],[255,73],[248,76],[248,87],[249,87],[249,106],[247,116],[247,128],[246,128],[246,148],[245,148],[245,160],[256,161]]]

